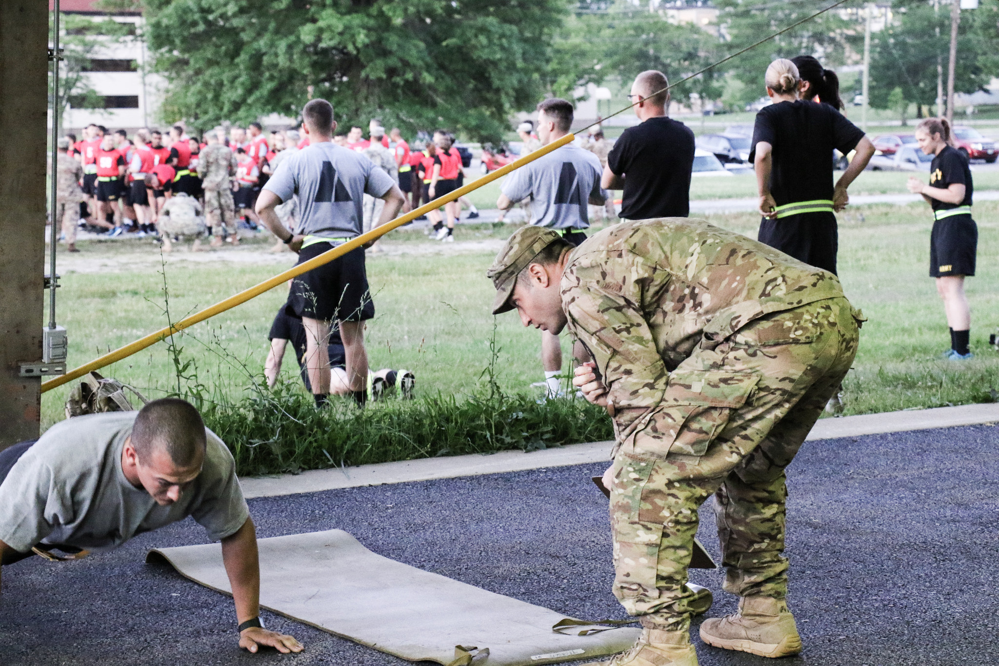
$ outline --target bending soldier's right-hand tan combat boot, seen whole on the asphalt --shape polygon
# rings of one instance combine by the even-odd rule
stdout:
[[[700,639],[714,647],[761,657],[787,657],[801,652],[794,616],[783,599],[772,597],[742,597],[735,615],[704,620]]]

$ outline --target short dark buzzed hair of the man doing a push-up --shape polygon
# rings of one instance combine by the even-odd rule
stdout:
[[[205,421],[194,405],[179,397],[148,402],[132,425],[132,447],[148,461],[154,450],[166,450],[178,467],[190,467],[204,456]]]

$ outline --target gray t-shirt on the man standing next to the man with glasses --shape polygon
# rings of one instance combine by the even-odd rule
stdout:
[[[607,196],[600,189],[601,172],[599,158],[569,144],[514,171],[506,177],[501,191],[512,202],[532,197],[532,225],[586,229],[590,195]]]

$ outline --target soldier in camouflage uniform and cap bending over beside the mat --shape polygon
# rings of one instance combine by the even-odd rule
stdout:
[[[613,418],[614,594],[642,637],[614,666],[694,666],[685,586],[712,493],[739,613],[708,644],[769,657],[801,641],[787,610],[784,468],[846,374],[862,320],[830,273],[701,220],[626,222],[572,250],[518,230],[489,272],[494,313],[567,326],[592,355],[573,383]]]

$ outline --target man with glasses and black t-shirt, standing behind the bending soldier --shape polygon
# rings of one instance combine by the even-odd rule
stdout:
[[[622,220],[685,218],[690,213],[693,132],[666,116],[666,75],[642,72],[631,84],[628,101],[637,103],[639,125],[624,130],[607,155],[600,187],[623,190]]]

